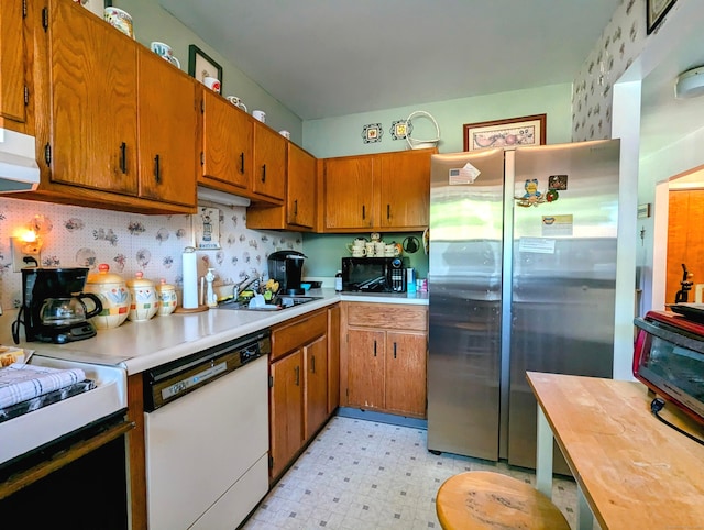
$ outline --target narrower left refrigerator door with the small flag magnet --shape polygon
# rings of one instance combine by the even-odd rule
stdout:
[[[503,150],[432,156],[429,450],[498,459],[503,202]]]

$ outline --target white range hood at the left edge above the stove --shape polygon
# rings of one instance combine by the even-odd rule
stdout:
[[[40,184],[34,136],[0,129],[0,194],[31,191]]]

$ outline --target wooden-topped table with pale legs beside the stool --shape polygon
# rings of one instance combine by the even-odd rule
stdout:
[[[704,528],[704,445],[658,421],[640,383],[528,372],[538,399],[537,487],[551,496],[552,439],[578,484],[578,527]],[[704,439],[668,404],[660,415]]]

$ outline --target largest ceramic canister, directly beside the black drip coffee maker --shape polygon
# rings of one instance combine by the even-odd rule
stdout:
[[[100,298],[102,311],[90,321],[99,330],[117,328],[128,319],[130,310],[130,291],[119,274],[110,273],[110,265],[98,265],[97,274],[89,274],[85,292],[92,292]]]

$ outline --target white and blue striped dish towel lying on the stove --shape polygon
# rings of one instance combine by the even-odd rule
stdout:
[[[11,364],[0,369],[0,408],[74,385],[85,378],[86,373],[80,368]]]

